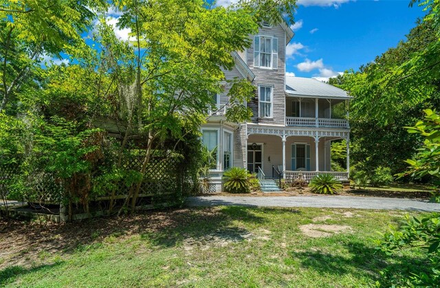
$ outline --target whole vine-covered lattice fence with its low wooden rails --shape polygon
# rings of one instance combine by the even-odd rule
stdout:
[[[119,180],[106,177],[100,169],[93,171],[86,180],[84,177],[61,180],[55,178],[53,173],[34,171],[32,175],[23,176],[17,173],[17,169],[0,167],[0,198],[29,202],[32,206],[59,206],[59,209],[43,211],[59,211],[61,221],[67,220],[69,216],[73,216],[72,219],[81,219],[90,215],[105,214],[109,211],[111,202],[114,202],[113,211],[118,212],[124,201],[132,196],[133,186],[137,184],[135,180],[130,181],[127,178],[139,174],[142,167],[140,153],[142,150],[136,150],[135,153],[129,153],[128,157],[124,157],[122,167],[118,171],[125,173],[122,173],[123,176]],[[185,163],[182,156],[155,152],[142,178],[137,207],[155,208],[179,204],[183,196],[190,193],[195,185]],[[73,183],[78,181],[87,181],[88,184],[82,183],[78,186],[77,183]],[[14,185],[17,184],[21,187],[20,193],[14,193]],[[77,191],[78,193],[72,196],[69,187],[81,187],[84,191]]]

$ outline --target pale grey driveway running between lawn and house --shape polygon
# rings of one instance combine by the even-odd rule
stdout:
[[[317,208],[358,208],[440,212],[439,203],[425,200],[352,197],[352,196],[202,196],[188,197],[186,206],[261,206],[261,207],[317,207]]]

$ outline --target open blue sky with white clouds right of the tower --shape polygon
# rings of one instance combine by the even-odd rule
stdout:
[[[327,80],[404,40],[422,8],[409,1],[300,0],[286,71]]]

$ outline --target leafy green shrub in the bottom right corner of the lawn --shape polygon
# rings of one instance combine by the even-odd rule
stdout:
[[[408,275],[390,278],[382,272],[384,286],[437,287],[440,283],[440,215],[418,218],[406,215],[399,228],[391,227],[381,239],[375,240],[377,250],[392,255],[402,249],[423,249],[422,269]]]

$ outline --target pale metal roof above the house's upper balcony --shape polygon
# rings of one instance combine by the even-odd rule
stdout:
[[[346,91],[313,78],[286,75],[287,96],[351,99]]]

